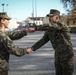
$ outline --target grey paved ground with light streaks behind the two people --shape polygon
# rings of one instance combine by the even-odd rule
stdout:
[[[22,39],[14,41],[14,43],[18,47],[22,48],[32,46],[42,37],[43,33],[43,31],[29,33]],[[71,39],[76,57],[76,34],[71,34]],[[30,55],[26,54],[22,57],[11,55],[9,67],[9,75],[55,75],[54,50],[50,42],[48,42]],[[76,75],[76,65],[74,75]]]

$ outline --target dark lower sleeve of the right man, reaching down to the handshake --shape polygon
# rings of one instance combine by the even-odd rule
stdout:
[[[39,49],[40,47],[42,47],[48,41],[49,41],[48,34],[47,32],[45,32],[44,36],[39,41],[37,41],[31,48],[33,51],[35,51]]]

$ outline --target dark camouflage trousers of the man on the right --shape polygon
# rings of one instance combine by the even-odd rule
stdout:
[[[66,61],[55,61],[56,75],[73,75],[74,72],[74,57]]]

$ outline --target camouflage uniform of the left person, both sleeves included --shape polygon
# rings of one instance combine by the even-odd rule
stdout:
[[[25,48],[18,48],[12,40],[20,39],[27,35],[26,31],[7,32],[0,31],[0,75],[8,75],[10,54],[22,56],[26,54]]]

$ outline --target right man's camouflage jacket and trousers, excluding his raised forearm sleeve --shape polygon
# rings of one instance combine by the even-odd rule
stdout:
[[[74,71],[74,50],[70,31],[66,25],[52,23],[42,39],[32,46],[35,51],[50,41],[55,50],[56,75],[72,75]]]

